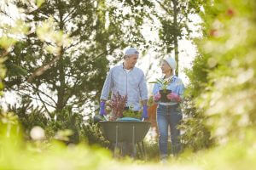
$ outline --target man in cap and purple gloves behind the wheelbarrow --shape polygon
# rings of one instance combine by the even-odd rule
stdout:
[[[137,68],[138,51],[136,48],[125,50],[124,62],[110,69],[104,82],[101,95],[100,115],[106,115],[105,103],[110,92],[119,93],[122,96],[127,95],[126,108],[132,105],[133,111],[140,111],[140,100],[143,103],[142,119],[148,118],[148,89],[144,73]],[[119,144],[122,148],[122,155],[136,156],[135,147],[131,143]]]

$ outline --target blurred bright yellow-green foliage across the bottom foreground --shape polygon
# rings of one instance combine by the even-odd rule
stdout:
[[[170,158],[166,165],[155,162],[157,143],[144,143],[151,162],[116,161],[107,150],[91,148],[86,144],[66,145],[58,141],[25,142],[14,114],[0,114],[0,168],[1,169],[251,169],[255,167],[254,129],[247,129],[244,138],[234,138],[228,144],[197,154],[183,153],[179,158]],[[19,159],[17,159],[19,158]],[[154,161],[154,162],[153,162]],[[40,166],[38,166],[40,165]]]

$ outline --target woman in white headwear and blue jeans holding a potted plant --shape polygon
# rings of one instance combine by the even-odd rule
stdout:
[[[159,147],[160,147],[160,159],[165,160],[168,156],[167,143],[168,143],[168,127],[171,129],[171,141],[172,141],[172,154],[177,156],[181,150],[181,144],[179,140],[180,131],[177,129],[177,125],[182,120],[182,113],[180,111],[180,102],[182,101],[182,95],[184,85],[181,79],[174,75],[176,69],[176,61],[171,57],[163,59],[161,62],[161,70],[164,74],[162,80],[168,81],[167,89],[172,90],[172,93],[167,94],[168,102],[161,102],[160,84],[155,83],[153,88],[154,102],[158,103],[157,107],[157,125],[159,129]]]

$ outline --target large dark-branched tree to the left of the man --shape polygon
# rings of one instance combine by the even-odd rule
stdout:
[[[80,110],[98,99],[109,69],[107,56],[112,54],[117,61],[119,49],[143,42],[137,29],[143,22],[131,24],[123,8],[108,1],[46,0],[36,10],[31,3],[15,4],[25,9],[31,33],[9,54],[5,84],[21,97],[41,102],[45,111],[61,111],[67,105]],[[140,14],[143,9],[137,19],[143,17]],[[45,20],[51,24],[45,25]],[[41,29],[35,31],[38,26]]]

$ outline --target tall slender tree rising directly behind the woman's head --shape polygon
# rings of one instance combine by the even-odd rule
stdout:
[[[163,53],[171,53],[174,50],[175,59],[177,61],[176,75],[178,76],[178,41],[191,32],[188,24],[192,22],[189,19],[190,14],[197,14],[200,12],[202,0],[155,0],[159,5],[156,8],[161,13],[155,12],[155,16],[160,20],[159,31],[159,47]]]

